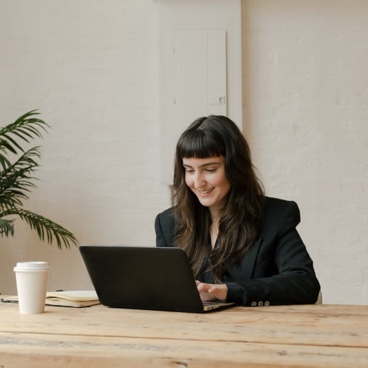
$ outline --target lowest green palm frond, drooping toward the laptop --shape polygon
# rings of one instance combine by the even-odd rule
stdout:
[[[68,249],[70,249],[71,244],[78,244],[77,239],[72,233],[70,233],[70,231],[64,229],[63,226],[46,217],[37,215],[37,213],[14,207],[12,209],[8,209],[8,211],[3,211],[1,215],[18,215],[21,220],[26,221],[28,226],[30,226],[30,229],[37,232],[41,241],[46,240],[51,244],[55,240],[59,249],[62,248],[63,244]]]

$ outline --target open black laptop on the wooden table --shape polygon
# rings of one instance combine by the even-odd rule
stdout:
[[[101,304],[128,309],[202,313],[231,302],[202,302],[180,248],[80,245]]]

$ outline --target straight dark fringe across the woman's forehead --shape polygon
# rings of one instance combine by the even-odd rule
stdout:
[[[200,129],[188,131],[177,145],[177,155],[180,158],[219,157],[225,156],[225,151],[222,139],[214,137],[209,131]]]

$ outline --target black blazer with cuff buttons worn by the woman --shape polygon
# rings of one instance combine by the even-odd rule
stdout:
[[[243,306],[315,303],[320,284],[296,226],[296,202],[266,197],[260,233],[238,264],[228,264],[227,301]],[[173,207],[155,219],[156,246],[174,246]],[[209,282],[209,275],[198,279]]]

